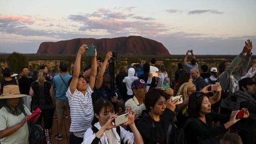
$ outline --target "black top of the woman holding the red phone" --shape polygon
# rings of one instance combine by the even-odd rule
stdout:
[[[217,135],[226,132],[224,124],[221,126],[213,127],[213,121],[226,121],[228,122],[229,114],[209,113],[205,115],[206,123],[197,118],[189,119],[189,123],[184,127],[187,144],[214,144]]]

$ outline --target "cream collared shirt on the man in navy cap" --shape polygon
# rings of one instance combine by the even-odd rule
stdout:
[[[125,102],[125,108],[130,108],[132,107],[132,113],[135,113],[137,111],[137,114],[135,115],[135,118],[141,115],[143,110],[146,110],[145,104],[142,103],[141,105],[139,104],[138,99],[134,96],[133,98],[130,98]],[[135,119],[134,118],[134,119]]]

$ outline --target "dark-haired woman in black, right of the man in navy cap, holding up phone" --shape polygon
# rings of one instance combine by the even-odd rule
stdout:
[[[175,105],[178,99],[171,102],[167,94],[161,89],[150,89],[145,95],[146,111],[143,111],[141,118],[137,121],[141,136],[145,144],[172,144],[173,137],[173,119],[175,117]]]

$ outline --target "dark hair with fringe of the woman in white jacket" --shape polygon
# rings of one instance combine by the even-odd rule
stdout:
[[[109,100],[105,98],[100,98],[94,103],[93,111],[95,114],[99,115],[102,109],[104,109],[104,112],[114,111],[114,106]],[[94,126],[94,124],[97,122],[99,122],[99,120],[94,115],[91,125]]]

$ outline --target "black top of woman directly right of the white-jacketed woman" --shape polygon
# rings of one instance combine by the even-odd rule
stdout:
[[[175,117],[175,113],[170,109],[166,108],[161,115],[161,120],[153,126],[152,118],[148,115],[147,112],[143,111],[141,114],[141,118],[136,123],[137,129],[141,133],[141,136],[144,140],[145,144],[156,144],[156,142],[161,142],[166,138],[167,133],[169,136],[168,143],[172,144],[173,142],[173,134],[175,128],[173,126],[173,119]],[[169,126],[171,125],[171,131],[168,131]]]

